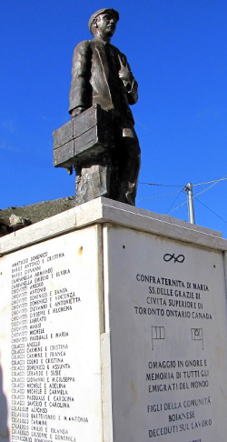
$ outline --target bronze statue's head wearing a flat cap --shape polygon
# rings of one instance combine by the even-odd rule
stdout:
[[[94,36],[101,35],[111,38],[114,35],[118,20],[119,14],[114,9],[99,9],[90,17],[88,27]]]

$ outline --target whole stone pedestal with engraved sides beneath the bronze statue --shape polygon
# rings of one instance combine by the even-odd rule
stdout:
[[[0,442],[225,442],[227,241],[105,198],[0,242]]]

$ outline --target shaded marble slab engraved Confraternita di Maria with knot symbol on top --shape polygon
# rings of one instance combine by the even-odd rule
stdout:
[[[225,442],[222,252],[114,226],[104,248],[114,442]]]

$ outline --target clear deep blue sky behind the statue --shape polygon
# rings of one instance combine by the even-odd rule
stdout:
[[[187,220],[183,187],[224,178],[193,194],[196,224],[227,237],[226,0],[3,2],[0,208],[74,195],[74,176],[53,166],[52,132],[69,119],[74,46],[105,6],[120,13],[112,43],[139,83],[136,206]]]

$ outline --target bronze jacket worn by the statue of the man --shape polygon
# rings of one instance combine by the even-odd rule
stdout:
[[[133,121],[129,104],[138,99],[138,84],[132,73],[130,83],[119,78],[122,65],[131,72],[126,56],[114,45],[95,38],[79,43],[74,49],[69,112],[78,106],[99,104],[104,110],[114,109],[118,116]]]

